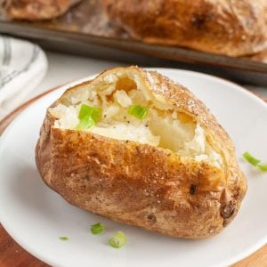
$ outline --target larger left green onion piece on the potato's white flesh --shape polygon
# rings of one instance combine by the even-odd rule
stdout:
[[[76,126],[77,130],[86,130],[90,129],[101,118],[101,109],[94,108],[83,104],[78,114],[80,122]]]

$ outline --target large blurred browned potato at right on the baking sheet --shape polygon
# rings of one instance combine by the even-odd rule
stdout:
[[[111,21],[152,44],[241,56],[267,47],[265,0],[102,0]]]

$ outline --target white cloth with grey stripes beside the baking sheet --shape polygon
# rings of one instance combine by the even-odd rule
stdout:
[[[46,69],[47,59],[39,46],[0,36],[0,119],[40,84]]]

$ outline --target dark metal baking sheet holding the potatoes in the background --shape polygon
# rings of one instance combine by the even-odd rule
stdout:
[[[44,22],[2,20],[0,33],[29,39],[56,52],[141,66],[192,69],[245,84],[267,85],[267,64],[261,61],[133,40],[110,23],[99,1],[83,1],[61,18]]]

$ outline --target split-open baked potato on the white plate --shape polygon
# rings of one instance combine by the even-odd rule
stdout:
[[[176,238],[222,231],[247,190],[231,139],[206,106],[134,66],[106,70],[47,109],[36,166],[69,203]]]

